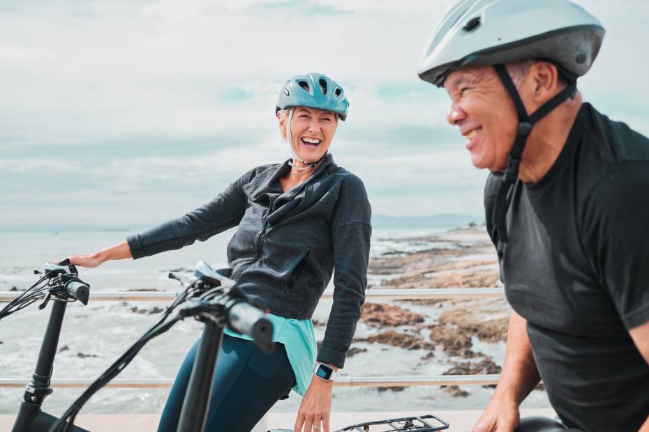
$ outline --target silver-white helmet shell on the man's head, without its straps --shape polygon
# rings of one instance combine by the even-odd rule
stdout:
[[[590,69],[603,38],[597,18],[571,1],[463,0],[435,29],[419,77],[442,86],[466,65],[541,59],[576,79]]]

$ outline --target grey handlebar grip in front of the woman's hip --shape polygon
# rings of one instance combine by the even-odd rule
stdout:
[[[259,348],[270,353],[273,349],[273,323],[264,311],[246,302],[237,302],[227,313],[227,325],[235,332],[247,334]]]

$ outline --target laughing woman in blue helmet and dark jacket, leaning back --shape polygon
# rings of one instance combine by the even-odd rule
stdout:
[[[237,226],[227,245],[232,279],[271,311],[276,349],[266,355],[248,337],[225,330],[206,431],[250,431],[291,388],[304,395],[295,431],[329,431],[332,380],[360,317],[371,237],[363,182],[328,153],[348,106],[343,88],[326,75],[288,80],[276,116],[290,160],[251,169],[183,217],[70,257],[75,265],[96,267],[179,249]],[[311,316],[334,269],[334,303],[318,351]],[[180,367],[158,431],[177,429],[197,346]]]

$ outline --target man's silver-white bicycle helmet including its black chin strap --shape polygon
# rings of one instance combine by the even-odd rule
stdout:
[[[519,117],[516,139],[493,206],[491,238],[502,257],[508,241],[507,194],[532,127],[576,91],[576,79],[595,61],[604,39],[602,24],[568,0],[462,0],[442,19],[426,46],[419,77],[438,87],[467,65],[492,65]],[[528,114],[505,63],[536,59],[556,65],[568,85]]]

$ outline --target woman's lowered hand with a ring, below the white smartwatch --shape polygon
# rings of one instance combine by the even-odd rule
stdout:
[[[294,432],[329,432],[334,383],[313,376],[297,412]]]

